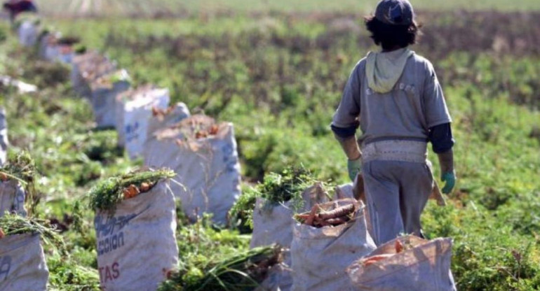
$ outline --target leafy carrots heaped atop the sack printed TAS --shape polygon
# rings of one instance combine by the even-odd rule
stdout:
[[[159,180],[174,176],[174,171],[161,169],[158,171],[134,171],[123,176],[108,178],[90,189],[90,207],[113,213],[116,204],[119,204],[123,199],[130,199],[141,192],[147,192]]]

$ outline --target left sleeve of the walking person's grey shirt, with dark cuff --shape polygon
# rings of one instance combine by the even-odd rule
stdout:
[[[358,64],[351,72],[343,90],[342,101],[339,102],[337,111],[332,118],[332,131],[341,138],[354,136],[360,122],[360,78],[358,76]]]

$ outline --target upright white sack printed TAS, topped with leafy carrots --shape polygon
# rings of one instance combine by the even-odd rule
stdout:
[[[100,286],[156,290],[178,264],[175,173],[141,170],[102,180],[90,190]]]

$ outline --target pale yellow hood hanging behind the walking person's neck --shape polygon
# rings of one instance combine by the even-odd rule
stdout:
[[[407,59],[414,55],[408,48],[391,52],[369,52],[366,57],[367,85],[377,93],[390,92],[398,82]]]

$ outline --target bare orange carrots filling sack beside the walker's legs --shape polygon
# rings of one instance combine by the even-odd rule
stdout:
[[[295,218],[304,225],[312,227],[337,226],[351,221],[356,211],[358,208],[352,201],[342,206],[338,206],[337,202],[328,202],[315,204],[311,211],[297,214]]]

